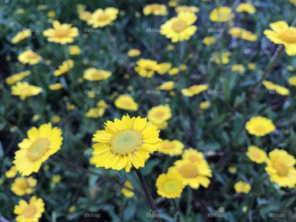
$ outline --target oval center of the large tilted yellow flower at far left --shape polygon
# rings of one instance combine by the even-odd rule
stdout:
[[[47,138],[38,138],[28,149],[27,157],[29,160],[36,160],[43,156],[49,148],[50,142]]]

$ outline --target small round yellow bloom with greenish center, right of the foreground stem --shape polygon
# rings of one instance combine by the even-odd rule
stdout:
[[[182,175],[168,172],[161,174],[156,180],[157,194],[166,198],[179,198],[185,187],[182,182]]]

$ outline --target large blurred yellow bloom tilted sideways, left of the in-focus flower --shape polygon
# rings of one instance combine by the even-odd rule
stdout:
[[[39,129],[32,127],[27,134],[28,138],[18,144],[20,150],[14,153],[13,161],[22,176],[38,172],[41,164],[60,150],[63,141],[62,131],[52,128],[51,123],[43,124]]]

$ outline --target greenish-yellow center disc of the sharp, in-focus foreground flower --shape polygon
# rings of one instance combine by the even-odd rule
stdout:
[[[133,153],[142,144],[142,134],[136,130],[121,130],[110,140],[110,149],[113,154],[127,155]]]

